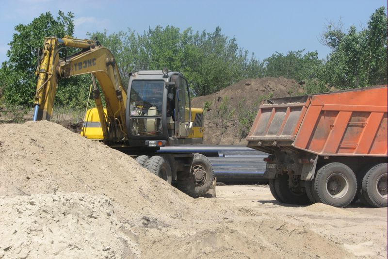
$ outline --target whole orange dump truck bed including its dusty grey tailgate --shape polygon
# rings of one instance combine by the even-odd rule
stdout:
[[[267,100],[248,145],[323,156],[387,156],[387,86]],[[297,150],[295,150],[297,151]]]

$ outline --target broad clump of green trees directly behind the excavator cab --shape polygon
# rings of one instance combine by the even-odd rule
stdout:
[[[260,66],[252,54],[239,48],[217,27],[214,32],[180,32],[174,26],[156,26],[142,34],[107,32],[89,34],[110,49],[116,58],[123,81],[131,71],[149,69],[183,72],[194,95],[208,95],[247,76],[259,77]]]

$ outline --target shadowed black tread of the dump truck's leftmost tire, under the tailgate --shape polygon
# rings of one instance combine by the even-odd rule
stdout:
[[[306,205],[310,203],[306,193],[295,194],[290,190],[288,175],[278,175],[275,178],[275,192],[283,203]]]

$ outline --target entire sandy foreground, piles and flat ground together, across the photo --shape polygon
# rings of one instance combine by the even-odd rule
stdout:
[[[387,258],[386,208],[285,206],[267,186],[192,199],[60,125],[0,127],[0,258]]]

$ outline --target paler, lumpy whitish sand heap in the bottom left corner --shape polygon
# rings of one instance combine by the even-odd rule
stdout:
[[[3,196],[0,208],[0,251],[9,258],[117,258],[125,252],[140,255],[138,245],[124,234],[125,226],[106,196]]]

